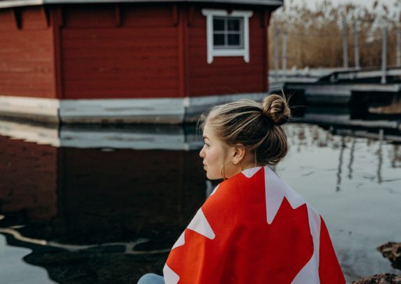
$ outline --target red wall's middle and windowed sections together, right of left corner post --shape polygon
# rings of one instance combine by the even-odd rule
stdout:
[[[63,6],[63,98],[265,91],[264,13],[253,8],[249,63],[242,57],[215,57],[208,64],[202,8],[172,3]]]

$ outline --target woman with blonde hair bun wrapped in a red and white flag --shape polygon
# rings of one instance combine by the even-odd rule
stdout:
[[[207,178],[224,179],[139,283],[345,283],[321,216],[269,168],[287,154],[287,101],[239,100],[201,117]]]

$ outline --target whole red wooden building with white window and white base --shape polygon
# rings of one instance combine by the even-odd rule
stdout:
[[[0,114],[180,123],[260,100],[282,1],[0,1]]]

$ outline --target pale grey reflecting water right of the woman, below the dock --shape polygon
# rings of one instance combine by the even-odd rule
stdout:
[[[399,146],[386,141],[395,140],[397,132],[337,127],[327,131],[301,124],[288,125],[287,130],[302,133],[303,139],[300,143],[289,138],[294,150],[290,148],[278,173],[331,226],[347,281],[384,271],[397,273],[374,251],[381,240],[401,236],[401,173],[400,166],[394,166]],[[347,173],[342,170],[345,164]]]

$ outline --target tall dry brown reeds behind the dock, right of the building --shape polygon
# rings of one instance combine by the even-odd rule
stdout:
[[[282,7],[273,13],[269,30],[270,67],[274,68],[274,34],[287,33],[287,68],[338,68],[343,66],[342,15],[347,19],[348,65],[354,66],[354,21],[358,26],[358,45],[361,67],[381,65],[382,28],[388,30],[387,64],[396,63],[397,20],[385,4],[374,9],[351,4],[333,6],[322,1],[312,10],[307,6]],[[280,55],[281,56],[281,55]],[[281,61],[280,61],[281,64]]]

